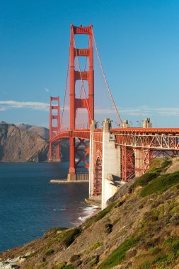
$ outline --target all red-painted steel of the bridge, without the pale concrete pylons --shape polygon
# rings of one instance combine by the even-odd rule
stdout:
[[[88,49],[76,48],[74,35],[88,35]],[[89,70],[76,71],[74,69],[74,59],[78,57],[88,57]],[[70,124],[69,130],[60,130],[59,123],[53,125],[53,120],[59,122],[59,97],[50,98],[50,159],[52,159],[52,146],[56,147],[56,158],[59,158],[59,142],[62,139],[69,139],[70,147],[70,166],[69,175],[76,174],[78,168],[88,168],[86,156],[89,153],[88,142],[90,139],[90,129],[76,126],[77,108],[86,108],[88,111],[88,126],[94,120],[94,71],[93,71],[93,28],[76,27],[71,24],[70,41],[70,74],[69,74],[69,99],[70,99]],[[86,98],[76,98],[75,83],[81,79],[88,81],[88,96]],[[84,90],[84,89],[83,89]],[[84,90],[85,91],[85,90]],[[58,102],[58,108],[52,105],[52,101]],[[57,114],[53,115],[53,111]],[[120,147],[120,166],[122,181],[129,181],[134,176],[142,175],[151,159],[161,156],[178,156],[179,152],[179,128],[115,128],[110,129],[110,135],[115,141],[115,147]],[[78,141],[78,142],[77,142]],[[95,147],[93,159],[95,160],[94,176],[97,185],[94,185],[93,195],[101,194],[101,166],[103,163],[103,130],[96,129],[93,132]],[[81,154],[81,148],[83,152]],[[79,157],[75,161],[75,154]],[[83,162],[84,165],[81,165]]]

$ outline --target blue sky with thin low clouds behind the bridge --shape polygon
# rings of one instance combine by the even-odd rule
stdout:
[[[48,125],[50,96],[64,96],[70,23],[93,23],[122,120],[179,127],[178,0],[0,0],[0,14],[0,121]]]

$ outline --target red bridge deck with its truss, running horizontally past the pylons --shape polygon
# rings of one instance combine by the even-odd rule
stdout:
[[[64,130],[55,135],[51,142],[76,137],[90,139],[90,129]],[[179,128],[113,128],[110,134],[115,135],[115,144],[147,149],[179,150]],[[103,129],[94,130],[94,140],[102,142]]]

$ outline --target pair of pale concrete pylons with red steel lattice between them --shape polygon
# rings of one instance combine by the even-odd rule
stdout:
[[[110,127],[110,120],[105,119],[103,122],[103,144],[101,144],[100,149],[99,145],[96,145],[98,142],[94,139],[96,122],[93,121],[91,124],[89,199],[98,200],[102,209],[106,207],[107,200],[116,193],[120,181],[120,146],[115,145],[115,137],[110,134]],[[98,185],[97,191],[96,185]]]

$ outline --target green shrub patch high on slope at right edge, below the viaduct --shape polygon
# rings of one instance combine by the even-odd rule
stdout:
[[[149,184],[142,189],[140,195],[142,197],[146,197],[147,195],[151,195],[153,193],[161,194],[178,183],[179,171],[162,175],[149,182]]]

